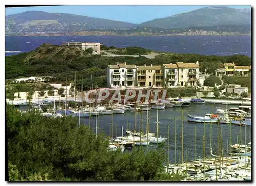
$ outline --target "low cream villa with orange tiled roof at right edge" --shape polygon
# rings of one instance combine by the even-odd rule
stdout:
[[[236,63],[224,63],[224,68],[215,70],[216,76],[248,76],[251,66],[236,66]]]

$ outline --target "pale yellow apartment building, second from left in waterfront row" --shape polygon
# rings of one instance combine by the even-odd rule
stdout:
[[[137,66],[138,87],[163,87],[162,66]]]

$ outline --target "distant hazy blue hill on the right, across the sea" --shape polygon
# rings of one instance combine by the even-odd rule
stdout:
[[[205,7],[187,13],[143,22],[140,27],[188,28],[189,26],[241,25],[251,24],[250,9],[229,7]]]

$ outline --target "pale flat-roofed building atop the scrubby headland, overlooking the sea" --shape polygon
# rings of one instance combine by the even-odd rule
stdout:
[[[61,43],[61,46],[75,46],[79,47],[83,50],[88,48],[93,49],[93,55],[100,55],[100,43],[93,43],[93,42],[64,42]]]

